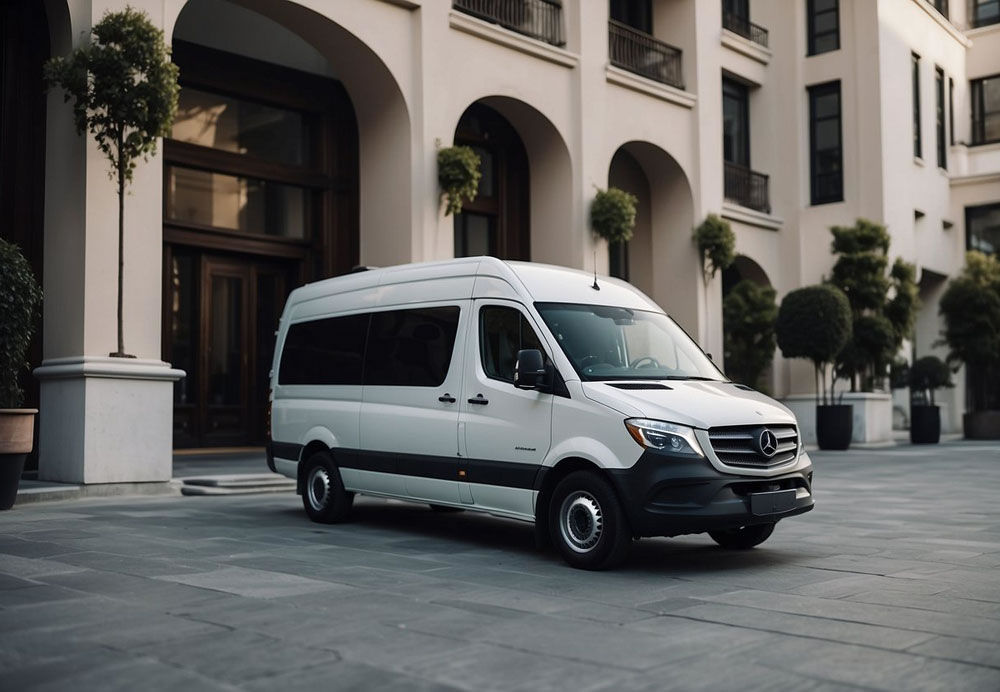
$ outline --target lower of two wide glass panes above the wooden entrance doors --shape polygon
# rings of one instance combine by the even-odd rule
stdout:
[[[303,239],[308,192],[255,178],[170,166],[167,219],[256,235]]]

